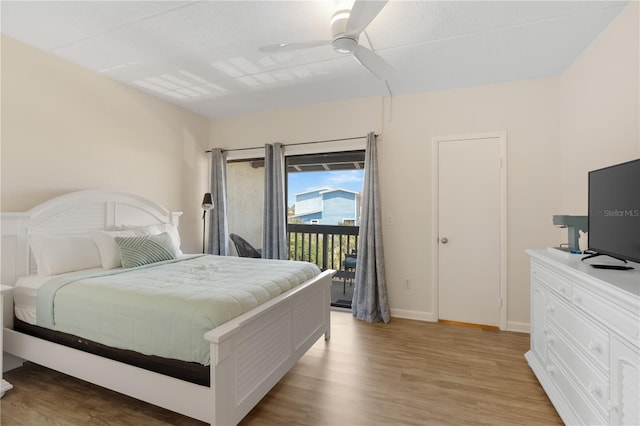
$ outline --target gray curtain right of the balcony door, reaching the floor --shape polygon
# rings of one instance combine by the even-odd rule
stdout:
[[[367,135],[364,170],[358,257],[351,311],[359,320],[388,323],[391,315],[384,276],[378,155],[374,133]]]

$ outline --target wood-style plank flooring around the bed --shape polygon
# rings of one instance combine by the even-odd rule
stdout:
[[[528,334],[333,312],[331,339],[241,425],[560,425],[528,348]],[[35,364],[4,378],[14,389],[0,400],[2,426],[202,425]]]

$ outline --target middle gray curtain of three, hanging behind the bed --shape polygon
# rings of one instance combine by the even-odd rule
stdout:
[[[281,143],[276,143],[266,144],[264,148],[262,257],[265,259],[288,259],[284,147]]]

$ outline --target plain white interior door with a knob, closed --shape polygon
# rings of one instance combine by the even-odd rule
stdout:
[[[505,328],[501,321],[504,138],[434,142],[438,319]]]

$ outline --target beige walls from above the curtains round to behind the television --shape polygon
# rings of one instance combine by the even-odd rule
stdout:
[[[382,214],[393,218],[383,236],[392,314],[428,320],[433,319],[429,266],[435,238],[432,137],[506,131],[508,326],[526,330],[529,266],[524,250],[564,242],[566,235],[553,227],[551,218],[580,208],[583,201],[573,200],[573,188],[585,188],[586,171],[604,161],[603,151],[612,152],[611,161],[638,156],[637,6],[625,9],[559,77],[396,96],[391,102],[369,98],[213,119],[211,146],[379,133]],[[607,64],[621,65],[615,72]],[[585,91],[590,93],[587,101]],[[613,105],[624,105],[625,112],[616,115]],[[602,128],[615,133],[615,142],[596,136]],[[582,165],[567,166],[576,144]],[[402,288],[405,278],[412,280],[411,289]]]

